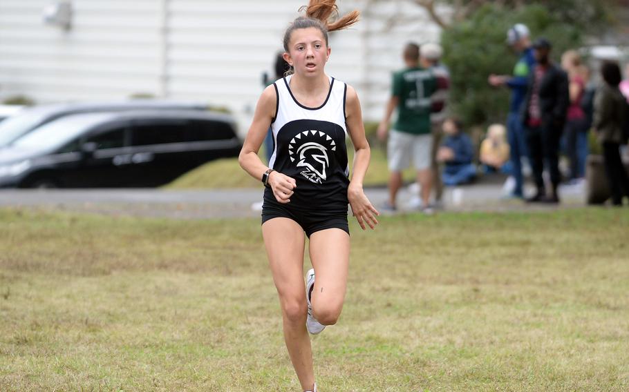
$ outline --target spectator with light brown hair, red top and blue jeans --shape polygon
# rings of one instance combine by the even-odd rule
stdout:
[[[581,63],[576,50],[568,50],[561,56],[561,67],[567,72],[570,93],[563,137],[565,151],[570,158],[569,179],[572,184],[585,177],[585,158],[588,156],[588,119],[583,110],[583,95],[588,84],[588,70]]]

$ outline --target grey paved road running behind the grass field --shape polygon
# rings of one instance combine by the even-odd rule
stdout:
[[[560,190],[558,208],[583,206],[583,186]],[[367,196],[376,206],[386,200],[385,188],[369,188]],[[402,213],[413,212],[417,202],[413,189],[404,188],[398,200]],[[95,190],[0,190],[0,207],[44,208],[178,219],[259,217],[252,204],[260,202],[261,188],[225,190],[95,189]],[[449,188],[444,195],[447,210],[547,210],[554,206],[527,206],[519,200],[502,199],[500,184],[476,184]]]

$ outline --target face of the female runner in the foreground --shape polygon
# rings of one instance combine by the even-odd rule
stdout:
[[[296,74],[304,76],[320,75],[330,57],[330,48],[321,30],[314,27],[294,30],[290,35],[288,53],[284,59],[294,68]]]

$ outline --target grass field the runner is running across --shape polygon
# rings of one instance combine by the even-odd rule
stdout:
[[[321,392],[629,390],[627,210],[351,230]],[[257,219],[0,209],[0,250],[0,391],[299,391]]]

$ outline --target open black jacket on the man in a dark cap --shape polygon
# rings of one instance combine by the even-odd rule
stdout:
[[[533,95],[535,70],[529,75],[529,87],[525,104],[522,107],[522,122],[528,126],[529,105]],[[541,110],[542,128],[554,128],[558,132],[563,130],[565,115],[570,104],[567,74],[554,63],[550,63],[539,85],[539,105]]]

